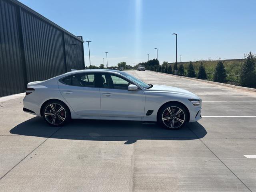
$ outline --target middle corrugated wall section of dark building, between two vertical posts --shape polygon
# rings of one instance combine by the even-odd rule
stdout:
[[[65,73],[62,31],[24,10],[21,22],[28,82]]]

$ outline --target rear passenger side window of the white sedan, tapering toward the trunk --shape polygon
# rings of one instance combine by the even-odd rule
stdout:
[[[74,74],[61,80],[62,83],[77,87],[95,87],[94,74]]]

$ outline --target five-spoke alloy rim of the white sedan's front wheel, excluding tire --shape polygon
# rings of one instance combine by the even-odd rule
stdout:
[[[168,128],[179,128],[185,122],[185,113],[179,107],[168,107],[164,110],[162,114],[162,121]]]

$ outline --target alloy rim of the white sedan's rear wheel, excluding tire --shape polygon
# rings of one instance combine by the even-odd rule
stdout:
[[[66,111],[57,103],[49,104],[44,111],[46,120],[52,125],[59,125],[66,119]]]

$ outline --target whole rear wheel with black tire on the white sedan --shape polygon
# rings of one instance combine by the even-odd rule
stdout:
[[[63,126],[71,119],[69,108],[59,100],[51,100],[44,104],[42,116],[46,123],[51,126]]]

